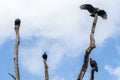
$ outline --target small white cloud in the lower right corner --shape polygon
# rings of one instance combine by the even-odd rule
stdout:
[[[111,68],[109,65],[106,65],[105,69],[115,78],[115,80],[120,80],[120,66]]]

